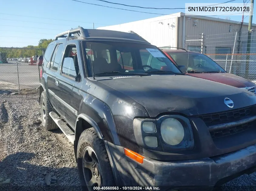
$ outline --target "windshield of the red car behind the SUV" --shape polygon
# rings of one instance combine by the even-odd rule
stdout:
[[[225,72],[221,66],[204,54],[168,53],[178,65],[184,65],[187,72]]]

